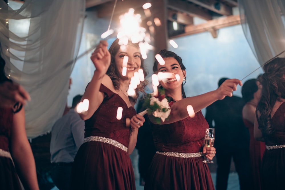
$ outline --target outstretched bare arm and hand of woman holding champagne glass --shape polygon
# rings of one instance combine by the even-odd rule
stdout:
[[[194,112],[197,113],[198,111],[209,106],[213,102],[217,100],[222,100],[223,98],[225,98],[225,96],[233,96],[232,92],[234,90],[237,90],[237,84],[242,85],[241,80],[228,79],[225,80],[225,82],[223,82],[223,84],[221,84],[221,86],[217,90],[213,90],[198,96],[184,98],[178,102],[175,102],[171,106],[171,113],[169,119],[158,124],[173,123],[188,117],[189,115],[186,108],[188,105],[192,105]],[[155,123],[155,121],[152,119],[153,116],[150,114],[149,116],[151,122]]]

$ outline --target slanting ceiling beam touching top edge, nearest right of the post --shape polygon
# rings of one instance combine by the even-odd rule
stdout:
[[[168,0],[167,3],[167,7],[172,10],[181,11],[189,14],[190,16],[197,16],[204,20],[212,20],[212,16],[209,11],[198,9],[196,5],[188,1]]]

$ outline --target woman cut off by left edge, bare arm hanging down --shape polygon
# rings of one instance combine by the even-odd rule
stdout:
[[[36,166],[22,107],[29,95],[5,77],[4,65],[0,57],[0,189],[22,189],[20,178],[25,189],[37,190]]]

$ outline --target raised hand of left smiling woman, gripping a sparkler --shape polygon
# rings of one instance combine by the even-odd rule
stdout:
[[[90,57],[96,70],[104,74],[107,72],[111,63],[111,55],[107,46],[108,43],[105,40],[101,40]]]

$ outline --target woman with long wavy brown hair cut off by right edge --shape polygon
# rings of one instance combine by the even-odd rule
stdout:
[[[263,66],[262,94],[256,108],[254,137],[264,141],[260,181],[262,189],[284,189],[285,179],[285,58]]]

